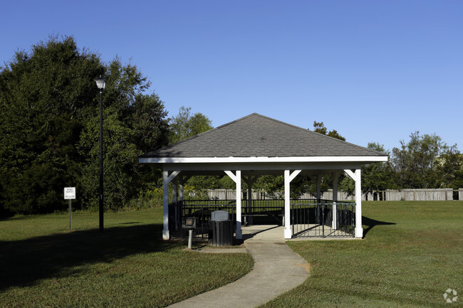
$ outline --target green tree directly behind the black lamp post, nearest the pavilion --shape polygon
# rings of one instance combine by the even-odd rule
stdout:
[[[122,65],[119,59],[108,65],[108,85],[104,100],[104,176],[105,206],[118,209],[138,191],[147,187],[152,166],[138,163],[138,156],[168,142],[167,112],[155,95],[145,95],[150,83],[134,65]],[[97,110],[95,110],[97,111]],[[90,118],[80,134],[79,153],[85,156],[80,185],[83,198],[91,208],[98,206],[93,198],[98,188],[99,115]]]

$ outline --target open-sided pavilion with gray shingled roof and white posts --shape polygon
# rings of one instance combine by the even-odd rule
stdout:
[[[172,199],[183,200],[187,176],[227,174],[236,183],[236,239],[241,233],[241,179],[251,187],[258,176],[284,176],[283,237],[291,238],[290,185],[298,175],[311,176],[320,198],[321,175],[333,174],[333,204],[338,177],[345,172],[355,181],[355,238],[363,237],[360,169],[363,164],[387,161],[387,155],[340,139],[253,113],[202,134],[155,149],[139,158],[162,169],[164,221],[162,238],[171,238],[169,184]],[[249,202],[249,200],[248,200]],[[249,203],[248,203],[249,204]],[[171,210],[172,211],[172,210]]]

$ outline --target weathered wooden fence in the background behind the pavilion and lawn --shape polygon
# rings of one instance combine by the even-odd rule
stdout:
[[[236,192],[233,189],[212,189],[207,192],[210,199],[219,200],[236,199]],[[281,194],[283,196],[283,194]],[[246,198],[246,192],[241,193],[241,198]],[[271,199],[264,191],[252,191],[254,200]],[[301,199],[314,198],[308,193],[304,193]],[[328,189],[321,195],[322,199],[333,200],[333,190]],[[375,193],[363,193],[363,201],[381,200],[381,201],[446,201],[446,200],[463,200],[463,188],[454,191],[452,188],[436,189],[402,189],[401,191],[386,190]],[[338,191],[338,201],[355,201],[355,195],[348,195],[344,191]]]

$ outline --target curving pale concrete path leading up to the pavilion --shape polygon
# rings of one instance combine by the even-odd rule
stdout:
[[[284,240],[264,239],[262,232],[259,232],[261,236],[244,241],[246,250],[254,258],[251,272],[229,285],[169,307],[257,307],[306,280],[309,275],[306,260],[294,253]]]

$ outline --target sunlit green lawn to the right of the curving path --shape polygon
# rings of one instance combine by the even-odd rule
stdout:
[[[363,217],[363,240],[289,242],[311,277],[262,307],[463,307],[462,201],[370,201]]]

